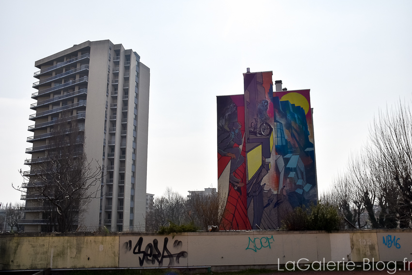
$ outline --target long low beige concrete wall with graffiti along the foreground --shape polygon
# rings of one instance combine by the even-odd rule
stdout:
[[[3,234],[0,270],[412,260],[412,230]]]

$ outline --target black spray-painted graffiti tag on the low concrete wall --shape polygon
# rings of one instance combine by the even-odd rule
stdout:
[[[144,251],[142,251],[142,244],[143,244],[143,237],[140,237],[139,240],[137,241],[136,245],[133,248],[133,254],[142,254],[142,257],[139,256],[139,265],[143,266],[143,263],[146,262],[148,264],[155,264],[158,262],[159,266],[163,266],[163,259],[169,259],[169,265],[168,266],[173,266],[174,265],[174,260],[176,260],[176,263],[179,263],[180,258],[187,258],[188,257],[188,252],[187,251],[180,251],[179,253],[172,254],[169,249],[167,248],[167,243],[169,242],[169,239],[167,237],[164,238],[164,243],[163,243],[163,250],[160,253],[160,250],[158,249],[158,240],[154,239],[153,244],[148,243],[146,245],[146,248]],[[129,240],[128,242],[124,243],[124,246],[128,251],[131,250],[131,245],[132,242]],[[181,241],[174,241],[173,247],[178,248],[182,246]]]

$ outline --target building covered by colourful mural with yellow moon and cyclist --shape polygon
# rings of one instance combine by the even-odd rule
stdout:
[[[310,90],[275,81],[273,91],[271,71],[243,79],[244,95],[217,97],[222,229],[276,229],[286,212],[317,202]]]

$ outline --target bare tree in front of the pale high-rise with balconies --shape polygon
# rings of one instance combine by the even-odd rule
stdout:
[[[32,199],[49,230],[67,232],[79,224],[79,213],[86,210],[91,199],[96,198],[102,176],[101,167],[93,160],[88,162],[83,152],[84,128],[79,128],[66,115],[55,124],[48,139],[46,156],[31,160],[26,189],[18,188]]]

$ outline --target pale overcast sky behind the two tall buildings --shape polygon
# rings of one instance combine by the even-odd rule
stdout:
[[[216,96],[246,68],[311,89],[319,192],[378,110],[412,99],[412,1],[0,0],[0,202],[29,170],[34,62],[110,39],[150,68],[147,193],[217,187]],[[86,140],[87,141],[87,140]]]

